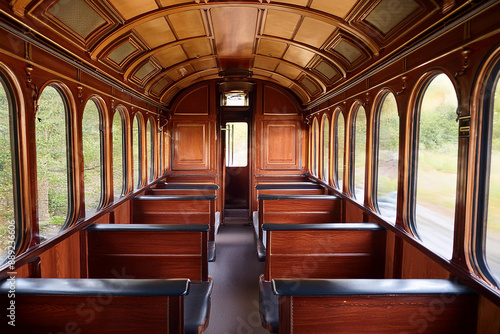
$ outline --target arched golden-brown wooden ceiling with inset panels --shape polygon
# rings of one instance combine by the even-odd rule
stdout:
[[[439,9],[432,0],[14,0],[12,8],[165,105],[231,69],[307,105]]]

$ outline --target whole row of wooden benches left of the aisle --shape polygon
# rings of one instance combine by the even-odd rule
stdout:
[[[80,232],[87,278],[15,280],[16,333],[36,328],[57,333],[105,329],[194,334],[207,328],[213,285],[208,276],[208,223],[213,220],[196,220],[202,215],[195,208],[209,207],[213,196],[152,196],[133,199],[132,224],[93,224]],[[189,201],[184,206],[191,208],[184,211],[187,217],[177,207],[179,201]],[[155,216],[148,212],[151,203],[171,211]],[[181,224],[173,224],[176,219]],[[9,280],[0,285],[4,309],[12,300],[11,288]],[[0,328],[12,330],[7,322]]]

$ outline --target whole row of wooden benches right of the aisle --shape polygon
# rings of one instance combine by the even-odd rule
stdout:
[[[385,228],[342,223],[336,196],[287,189],[259,195],[260,311],[271,333],[475,332],[473,291],[450,280],[385,279]]]

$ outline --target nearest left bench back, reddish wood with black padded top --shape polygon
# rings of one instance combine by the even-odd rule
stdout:
[[[188,279],[15,278],[14,282],[0,283],[2,310],[15,308],[15,327],[2,320],[2,333],[185,333]],[[12,286],[15,298],[11,299]]]

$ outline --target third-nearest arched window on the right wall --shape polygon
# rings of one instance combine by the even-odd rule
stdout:
[[[380,214],[396,222],[399,157],[399,115],[396,98],[386,93],[376,114],[376,205]]]

